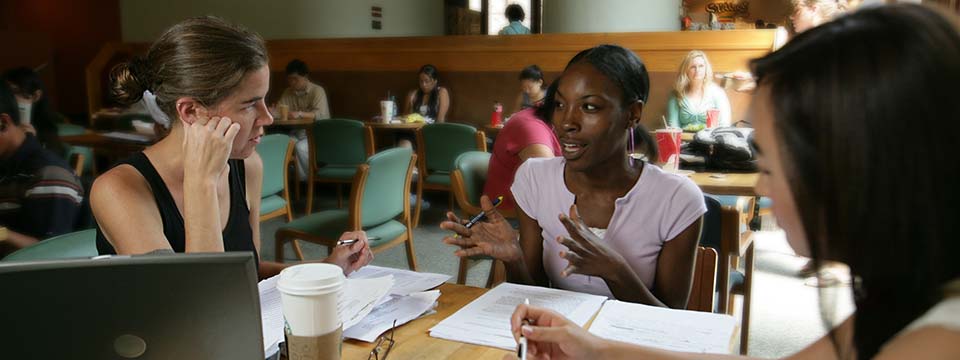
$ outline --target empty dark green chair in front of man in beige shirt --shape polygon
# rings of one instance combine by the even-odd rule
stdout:
[[[343,207],[343,184],[353,181],[357,166],[373,155],[373,129],[350,119],[326,119],[313,124],[307,179],[307,214],[313,212],[315,183],[337,184],[337,207]]]

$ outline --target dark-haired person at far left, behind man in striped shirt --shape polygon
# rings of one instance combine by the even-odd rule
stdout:
[[[63,115],[51,108],[40,76],[30,68],[18,67],[7,70],[3,78],[17,97],[20,126],[35,135],[44,149],[66,158],[67,147],[57,135],[57,124],[63,122]]]

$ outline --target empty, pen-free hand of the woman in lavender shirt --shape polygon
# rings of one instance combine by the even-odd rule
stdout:
[[[577,205],[570,206],[570,215],[560,214],[560,223],[567,228],[570,237],[558,236],[557,242],[566,246],[560,257],[569,264],[560,273],[606,277],[616,274],[624,264],[623,256],[601,242],[580,218]]]

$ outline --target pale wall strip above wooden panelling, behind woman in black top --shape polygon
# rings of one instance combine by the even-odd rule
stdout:
[[[370,7],[383,9],[383,27],[370,26]],[[216,15],[266,39],[443,34],[441,0],[121,0],[123,41],[149,42],[188,17]]]

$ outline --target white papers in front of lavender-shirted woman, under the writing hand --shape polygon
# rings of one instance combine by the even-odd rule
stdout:
[[[510,315],[529,299],[530,305],[557,311],[583,326],[607,299],[604,296],[536,286],[503,283],[430,329],[430,336],[513,350]]]

